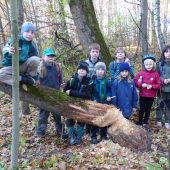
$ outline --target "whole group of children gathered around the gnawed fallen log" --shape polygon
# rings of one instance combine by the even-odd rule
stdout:
[[[22,35],[19,36],[19,81],[34,86],[40,83],[60,90],[62,72],[59,65],[54,62],[56,55],[52,49],[45,49],[40,62],[37,48],[32,42],[35,31],[35,26],[30,22],[22,25]],[[154,56],[150,54],[144,56],[142,59],[144,69],[136,77],[132,63],[126,57],[126,51],[122,47],[118,48],[116,60],[109,65],[111,82],[106,78],[106,65],[99,58],[99,52],[99,44],[90,45],[90,57],[78,64],[77,73],[66,83],[64,92],[69,96],[89,99],[102,104],[113,104],[122,111],[126,119],[129,119],[130,115],[135,113],[138,108],[137,87],[140,96],[139,125],[148,131],[150,131],[147,126],[150,110],[156,92],[158,92],[157,125],[162,126],[162,115],[165,109],[165,127],[170,129],[170,46],[163,49],[157,66]],[[10,39],[4,47],[4,56],[1,62],[4,67],[0,69],[0,81],[10,85],[12,85],[12,55],[14,53],[15,49],[12,47]],[[156,71],[154,70],[155,66]],[[49,113],[49,111],[39,108],[36,127],[38,137],[45,134]],[[65,131],[62,133],[61,116],[55,113],[52,115],[58,135],[63,135],[63,138],[69,137],[71,145],[81,143],[84,123],[77,122],[75,132],[75,121],[67,118],[68,133]],[[92,125],[91,138],[94,144],[99,142],[97,140],[98,132],[100,132],[101,140],[107,139],[107,127],[99,128]]]

